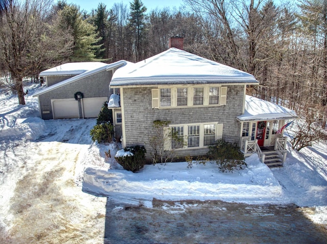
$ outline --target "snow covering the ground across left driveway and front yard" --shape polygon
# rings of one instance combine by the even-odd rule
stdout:
[[[314,211],[308,218],[327,225],[327,145],[315,145],[300,152],[289,146],[282,168],[269,169],[253,155],[246,159],[245,170],[234,173],[220,173],[214,164],[194,164],[188,168],[186,162],[147,165],[131,173],[113,159],[120,149],[118,144],[91,143],[89,130],[95,125],[95,119],[43,121],[39,118],[37,98],[32,97],[43,88],[34,83],[26,85],[29,93],[24,106],[18,105],[17,97],[5,89],[0,94],[0,234],[15,235],[21,219],[33,223],[38,213],[31,211],[31,206],[37,201],[49,209],[50,200],[53,211],[42,218],[52,223],[47,222],[48,228],[55,229],[56,233],[63,231],[57,223],[64,221],[62,216],[69,219],[69,228],[75,228],[76,223],[84,223],[83,228],[89,228],[89,221],[103,228],[104,218],[99,216],[105,214],[104,198],[86,194],[82,188],[115,202],[142,203],[148,207],[152,206],[153,198],[295,203],[312,207]],[[108,150],[111,158],[105,155]],[[47,190],[50,188],[51,191]],[[41,210],[42,207],[37,206]],[[18,226],[22,228],[21,225]],[[28,228],[29,222],[25,225]],[[81,226],[77,228],[83,231]],[[100,229],[94,236],[103,236]],[[26,232],[27,239],[29,234],[35,235]],[[39,235],[41,238],[41,233]],[[91,243],[81,239],[82,242]]]

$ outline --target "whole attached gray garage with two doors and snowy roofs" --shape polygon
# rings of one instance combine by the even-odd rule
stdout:
[[[97,118],[103,103],[108,101],[113,72],[126,63],[68,63],[42,71],[40,76],[56,80],[56,83],[44,86],[33,95],[38,97],[41,118]],[[64,77],[69,78],[61,80]]]

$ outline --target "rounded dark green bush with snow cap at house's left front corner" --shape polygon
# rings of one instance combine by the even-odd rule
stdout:
[[[117,151],[114,158],[125,170],[134,173],[144,167],[146,152],[147,150],[144,146],[134,146]]]

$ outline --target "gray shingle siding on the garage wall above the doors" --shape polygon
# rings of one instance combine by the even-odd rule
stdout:
[[[42,119],[53,119],[51,99],[74,98],[76,92],[82,92],[84,98],[108,97],[109,99],[109,83],[111,77],[112,71],[101,71],[39,95]],[[48,111],[49,113],[44,113]]]

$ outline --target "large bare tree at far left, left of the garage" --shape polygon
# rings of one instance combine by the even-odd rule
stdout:
[[[22,79],[38,73],[46,66],[43,62],[53,61],[69,50],[69,36],[60,38],[63,33],[51,32],[46,24],[50,0],[5,0],[5,3],[0,18],[0,56],[10,72],[9,84],[17,92],[19,104],[25,104]],[[63,45],[58,48],[59,44]]]

